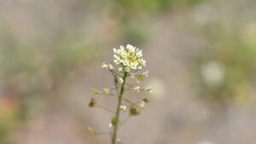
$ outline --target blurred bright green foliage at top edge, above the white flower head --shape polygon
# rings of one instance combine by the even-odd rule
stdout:
[[[186,11],[202,1],[205,0],[112,0],[108,12],[120,24],[122,41],[141,44],[148,36],[151,18],[169,11]]]

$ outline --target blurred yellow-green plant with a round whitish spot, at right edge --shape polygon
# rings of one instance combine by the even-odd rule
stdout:
[[[209,48],[195,60],[201,95],[222,106],[247,103],[253,95],[256,47],[240,32],[218,32],[208,35]]]

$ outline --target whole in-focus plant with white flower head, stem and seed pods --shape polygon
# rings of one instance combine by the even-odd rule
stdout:
[[[89,107],[100,107],[113,113],[113,118],[109,124],[111,131],[104,134],[111,135],[111,143],[116,144],[119,143],[118,130],[120,125],[124,124],[128,118],[139,115],[146,108],[146,103],[148,103],[147,97],[135,102],[128,100],[125,97],[125,91],[133,91],[134,93],[151,92],[152,88],[142,89],[140,86],[129,84],[129,80],[141,83],[144,78],[148,77],[148,71],[140,72],[146,66],[146,61],[142,58],[143,50],[127,44],[126,47],[120,46],[119,49],[113,49],[113,52],[113,62],[118,67],[114,67],[112,63],[103,62],[102,68],[108,69],[113,75],[114,87],[112,89],[103,88],[102,90],[91,89],[91,91],[95,95],[115,96],[118,99],[116,111],[101,106],[94,98],[90,100]],[[116,94],[114,94],[113,90],[116,91]],[[124,120],[121,120],[121,113],[126,115]],[[88,127],[87,130],[90,135],[97,134],[91,127]]]

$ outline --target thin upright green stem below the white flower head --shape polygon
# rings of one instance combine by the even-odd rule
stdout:
[[[125,80],[127,78],[127,72],[124,73],[123,76],[123,84],[121,85],[120,92],[119,92],[119,100],[118,100],[118,105],[117,109],[114,115],[114,123],[113,123],[113,135],[112,135],[112,144],[116,144],[116,138],[117,138],[117,130],[119,126],[119,113],[120,113],[120,106],[122,105],[123,101],[123,94],[125,92]]]

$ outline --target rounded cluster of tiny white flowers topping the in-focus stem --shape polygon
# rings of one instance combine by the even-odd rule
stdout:
[[[142,69],[146,66],[146,60],[143,60],[143,50],[137,49],[131,44],[127,44],[126,47],[120,46],[119,49],[113,49],[113,62],[117,65],[124,67],[125,72],[130,72],[131,70]],[[119,71],[122,70],[119,68]]]

